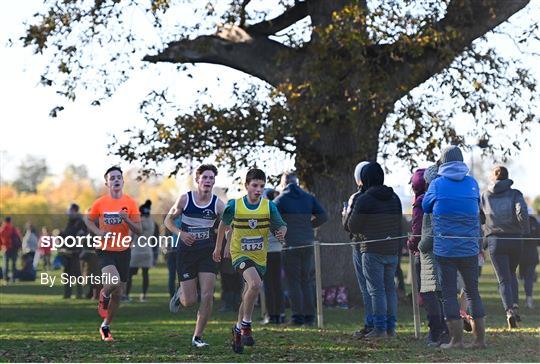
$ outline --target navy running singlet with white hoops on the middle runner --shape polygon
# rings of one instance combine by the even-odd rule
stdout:
[[[214,247],[216,244],[216,234],[214,225],[218,218],[216,212],[217,196],[212,195],[210,203],[206,206],[198,206],[193,198],[193,192],[187,193],[188,202],[182,213],[181,230],[195,235],[195,243],[192,246],[184,244],[179,240],[178,247],[181,250],[198,250],[202,248]]]

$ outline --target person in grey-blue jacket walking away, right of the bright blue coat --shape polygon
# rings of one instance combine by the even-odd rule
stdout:
[[[511,188],[514,182],[508,178],[508,169],[495,167],[491,181],[480,199],[481,221],[499,282],[508,328],[514,329],[519,317],[516,269],[523,249],[521,238],[530,232],[529,214],[521,192]]]

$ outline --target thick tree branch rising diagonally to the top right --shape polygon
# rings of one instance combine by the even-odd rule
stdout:
[[[441,38],[457,32],[457,36],[450,36],[450,40],[445,44],[438,47],[426,46],[420,56],[403,55],[399,60],[394,60],[396,54],[390,54],[396,51],[394,45],[381,46],[381,50],[388,52],[387,72],[396,75],[392,85],[396,91],[395,99],[401,98],[444,70],[475,39],[506,21],[529,2],[530,0],[452,0],[446,16],[435,25],[435,29],[441,32]]]

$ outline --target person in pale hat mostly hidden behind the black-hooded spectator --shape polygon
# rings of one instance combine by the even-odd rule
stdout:
[[[356,181],[356,184],[358,186],[358,190],[349,197],[349,202],[344,203],[346,206],[343,207],[343,213],[342,213],[342,223],[343,228],[345,231],[349,232],[349,219],[351,217],[351,212],[354,206],[354,203],[358,196],[360,196],[364,191],[362,190],[362,169],[364,169],[365,166],[369,164],[368,161],[362,161],[356,165],[356,168],[354,169],[354,180]],[[350,233],[350,232],[349,232]],[[349,237],[351,240],[357,240],[355,239],[355,236],[353,234],[349,234]],[[358,237],[359,240],[362,240],[361,237]],[[355,337],[363,337],[366,334],[368,334],[371,330],[373,330],[374,324],[373,324],[373,308],[371,306],[371,297],[369,295],[368,289],[367,289],[367,283],[366,283],[366,277],[364,276],[363,268],[362,268],[362,252],[360,251],[360,246],[358,244],[354,245],[353,247],[353,264],[354,264],[354,271],[356,273],[356,280],[358,281],[358,287],[360,288],[360,292],[362,293],[362,299],[364,302],[364,327],[360,330],[357,330],[354,333]]]

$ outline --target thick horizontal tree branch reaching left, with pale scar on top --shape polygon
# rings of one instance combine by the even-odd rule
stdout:
[[[273,86],[300,73],[304,53],[265,37],[251,37],[237,26],[223,27],[216,35],[171,42],[143,61],[213,63],[258,77]]]

